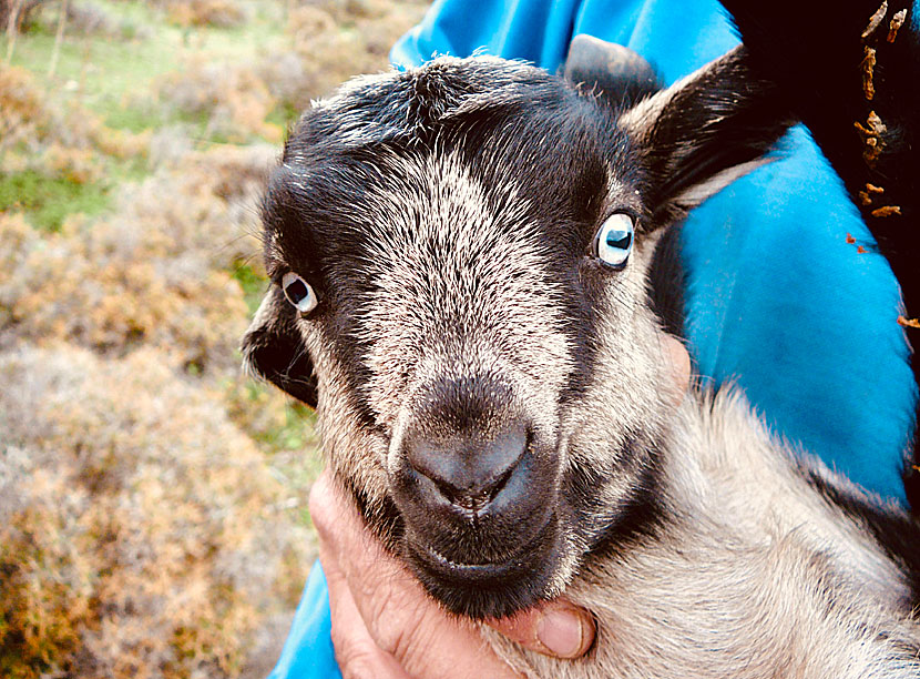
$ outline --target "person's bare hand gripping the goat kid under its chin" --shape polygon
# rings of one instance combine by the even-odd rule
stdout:
[[[519,677],[472,622],[446,614],[384,551],[328,472],[314,484],[310,516],[329,585],[336,659],[346,679]],[[564,599],[489,625],[559,658],[582,656],[595,632],[591,615]]]

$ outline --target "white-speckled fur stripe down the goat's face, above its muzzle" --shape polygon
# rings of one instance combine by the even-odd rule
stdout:
[[[380,224],[366,254],[366,275],[377,291],[359,323],[371,347],[371,407],[397,429],[423,385],[492,375],[552,430],[554,395],[571,357],[527,203],[508,183],[491,188],[490,204],[453,154],[387,162],[411,185],[367,197]]]

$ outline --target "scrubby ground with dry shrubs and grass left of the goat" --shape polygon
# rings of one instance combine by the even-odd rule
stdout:
[[[0,34],[0,676],[260,677],[320,459],[239,374],[258,196],[423,7],[70,0],[55,62],[63,6]]]

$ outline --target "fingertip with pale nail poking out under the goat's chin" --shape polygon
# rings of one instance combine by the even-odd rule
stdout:
[[[488,624],[525,648],[565,659],[586,653],[596,635],[591,614],[564,599]]]

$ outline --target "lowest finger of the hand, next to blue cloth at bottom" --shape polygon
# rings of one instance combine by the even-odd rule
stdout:
[[[333,646],[344,679],[409,679],[396,658],[371,638],[336,559],[320,548],[320,560],[329,587]]]

